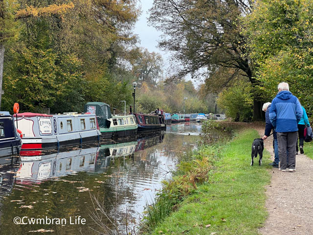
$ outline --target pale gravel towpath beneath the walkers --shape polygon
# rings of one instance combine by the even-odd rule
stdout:
[[[264,126],[257,130],[262,137]],[[272,141],[270,136],[264,146],[273,160]],[[313,160],[296,155],[296,172],[272,168],[270,173],[271,182],[266,187],[268,219],[260,234],[313,235]]]

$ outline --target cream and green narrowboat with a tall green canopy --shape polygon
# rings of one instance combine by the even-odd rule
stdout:
[[[135,116],[111,115],[110,105],[102,102],[88,102],[85,105],[85,113],[95,114],[101,132],[101,138],[113,139],[135,136],[138,125]]]

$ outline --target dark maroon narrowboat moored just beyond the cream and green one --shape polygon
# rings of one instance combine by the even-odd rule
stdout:
[[[154,114],[135,114],[138,124],[138,132],[160,131],[159,117]]]

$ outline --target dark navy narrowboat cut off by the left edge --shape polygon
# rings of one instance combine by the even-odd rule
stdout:
[[[0,157],[20,153],[22,140],[9,112],[0,111]]]

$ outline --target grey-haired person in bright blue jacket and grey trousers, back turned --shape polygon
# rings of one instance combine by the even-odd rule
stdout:
[[[300,101],[289,91],[286,82],[278,84],[278,94],[272,100],[269,119],[275,127],[278,140],[280,169],[295,171],[295,147],[298,138],[298,122],[303,115]],[[287,154],[289,163],[287,165]]]

